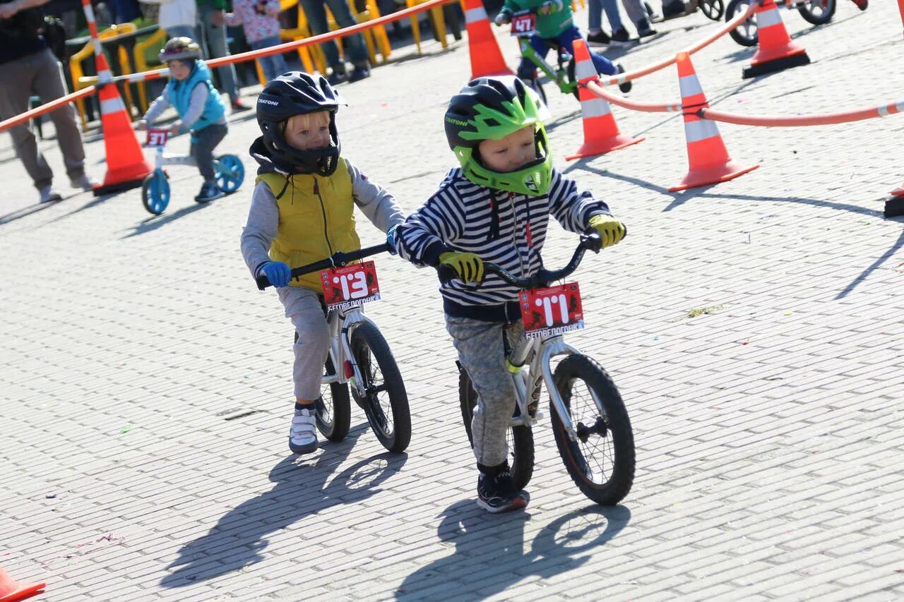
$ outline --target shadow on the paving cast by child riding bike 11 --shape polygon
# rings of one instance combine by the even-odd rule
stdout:
[[[553,520],[525,550],[530,513],[489,514],[473,500],[463,500],[440,515],[439,539],[455,545],[455,552],[411,573],[396,590],[396,599],[487,598],[523,578],[554,577],[587,563],[592,550],[631,520],[625,506],[594,504]]]

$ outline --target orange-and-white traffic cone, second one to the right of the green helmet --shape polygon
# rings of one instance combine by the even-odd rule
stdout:
[[[722,142],[716,122],[697,117],[697,111],[701,108],[710,108],[710,103],[706,100],[697,73],[693,71],[688,53],[679,52],[675,58],[678,62],[678,82],[681,87],[687,159],[691,169],[680,184],[669,188],[669,192],[727,182],[759,167],[759,165],[745,167],[732,161],[725,143]]]

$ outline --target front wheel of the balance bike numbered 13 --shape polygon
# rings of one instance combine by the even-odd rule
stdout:
[[[352,387],[354,400],[364,409],[373,434],[392,453],[405,451],[411,440],[408,393],[389,343],[371,322],[358,325],[352,334],[352,354],[363,382],[363,396]]]

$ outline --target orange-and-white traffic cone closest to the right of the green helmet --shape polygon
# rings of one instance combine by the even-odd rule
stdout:
[[[574,41],[574,79],[579,82],[598,78],[597,69],[590,59],[587,42]],[[596,94],[583,86],[578,87],[580,99],[580,113],[584,120],[584,144],[580,146],[574,155],[565,157],[567,161],[580,159],[585,156],[603,155],[609,151],[636,145],[644,138],[632,138],[618,131],[616,118],[612,117],[612,110],[605,99],[600,99]]]

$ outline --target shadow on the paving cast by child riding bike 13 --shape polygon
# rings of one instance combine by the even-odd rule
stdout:
[[[321,446],[311,464],[304,456],[287,456],[270,470],[274,487],[223,514],[211,530],[185,543],[160,580],[164,588],[184,588],[264,560],[266,536],[286,529],[308,514],[334,505],[359,503],[381,491],[379,485],[399,472],[406,454],[378,454],[356,462],[329,479],[349,455],[366,425],[353,428],[343,442]],[[327,481],[329,483],[327,484]]]

